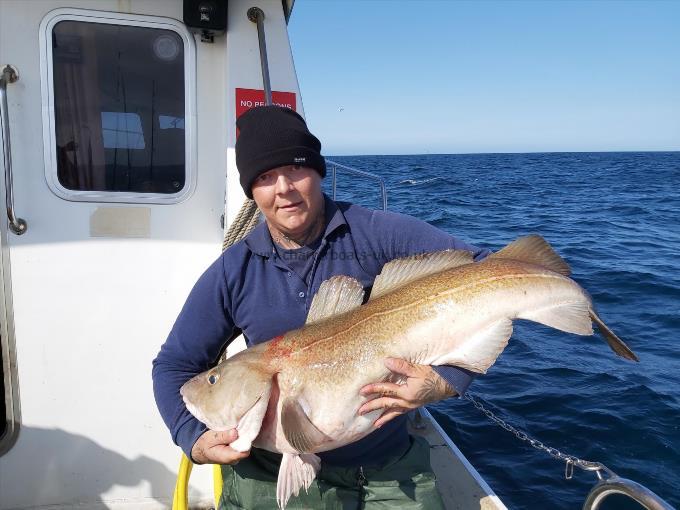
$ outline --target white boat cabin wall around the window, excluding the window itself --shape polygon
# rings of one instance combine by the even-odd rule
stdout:
[[[0,2],[0,62],[20,73],[8,96],[16,212],[28,222],[20,237],[0,222],[22,415],[17,443],[0,457],[0,509],[170,504],[180,452],[153,401],[151,360],[190,288],[220,253],[225,168],[229,218],[243,199],[233,154],[234,88],[262,88],[257,33],[245,19],[251,5],[230,1],[226,37],[214,44],[196,38],[194,193],[180,204],[128,206],[67,202],[48,189],[38,28],[49,11],[66,6],[181,21],[182,3]],[[258,5],[267,17],[272,88],[298,94],[301,111],[281,2]],[[149,237],[90,236],[97,208],[132,206],[149,209]],[[193,503],[212,499],[210,476],[208,467],[194,469]]]

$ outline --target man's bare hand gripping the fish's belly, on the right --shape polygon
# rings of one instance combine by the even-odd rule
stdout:
[[[361,395],[372,400],[364,403],[359,408],[358,414],[385,409],[375,421],[376,428],[412,409],[456,394],[449,383],[429,365],[416,365],[403,359],[387,358],[385,366],[393,373],[405,376],[406,382],[368,384],[359,391]]]

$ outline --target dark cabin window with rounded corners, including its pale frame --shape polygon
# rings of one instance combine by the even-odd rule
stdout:
[[[48,184],[68,200],[177,202],[193,182],[193,38],[120,16],[43,21]]]

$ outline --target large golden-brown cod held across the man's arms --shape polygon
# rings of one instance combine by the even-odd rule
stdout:
[[[569,274],[543,238],[528,236],[482,262],[460,250],[394,260],[363,306],[359,282],[336,276],[319,288],[302,328],[197,375],[181,394],[210,429],[238,430],[232,448],[283,454],[283,508],[316,477],[315,453],[374,430],[382,410],[357,416],[366,401],[359,390],[390,379],[387,357],[483,374],[508,344],[512,321],[527,319],[577,335],[592,335],[594,322],[616,354],[637,361]]]

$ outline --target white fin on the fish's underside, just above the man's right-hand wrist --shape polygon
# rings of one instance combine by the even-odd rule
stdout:
[[[511,336],[512,321],[501,319],[469,336],[460,347],[430,364],[452,365],[485,374],[508,345]]]

